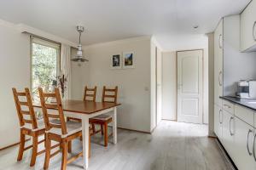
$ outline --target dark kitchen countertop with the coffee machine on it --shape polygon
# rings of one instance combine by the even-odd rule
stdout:
[[[231,103],[242,105],[244,107],[247,107],[248,109],[256,111],[256,99],[240,99],[240,98],[231,97],[231,96],[223,96],[219,98],[228,100]]]

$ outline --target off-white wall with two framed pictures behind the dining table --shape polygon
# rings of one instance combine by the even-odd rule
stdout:
[[[119,86],[118,127],[150,132],[150,37],[105,42],[84,47],[88,65],[81,65],[82,87],[97,86],[97,100],[102,86]],[[135,53],[135,68],[112,70],[111,56]],[[88,74],[89,73],[89,74]],[[81,93],[82,96],[83,92]]]

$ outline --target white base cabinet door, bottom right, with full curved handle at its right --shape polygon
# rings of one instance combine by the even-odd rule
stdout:
[[[235,118],[235,127],[235,153],[232,160],[238,169],[255,169],[256,163],[253,158],[254,129],[239,118]]]

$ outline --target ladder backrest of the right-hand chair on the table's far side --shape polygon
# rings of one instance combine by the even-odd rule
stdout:
[[[115,88],[106,88],[103,87],[102,91],[102,102],[110,102],[110,103],[117,103],[117,94],[118,94],[118,87]]]

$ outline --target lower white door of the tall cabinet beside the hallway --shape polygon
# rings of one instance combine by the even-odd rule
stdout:
[[[214,105],[214,133],[222,140],[222,110],[218,105]]]

